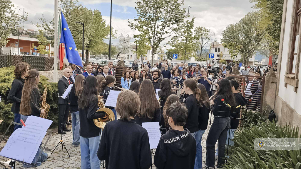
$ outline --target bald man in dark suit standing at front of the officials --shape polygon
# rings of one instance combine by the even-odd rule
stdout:
[[[67,87],[71,84],[71,81],[69,80],[69,77],[71,76],[71,70],[69,68],[65,68],[63,70],[63,77],[57,82],[57,88],[59,96],[62,96],[67,89]],[[66,127],[66,121],[69,114],[69,104],[70,104],[70,98],[69,95],[66,99],[59,97],[57,104],[59,106],[59,117],[58,117],[58,132],[59,134],[66,134],[65,131],[71,131]],[[63,123],[63,126],[62,126]],[[62,132],[63,130],[63,132]]]

